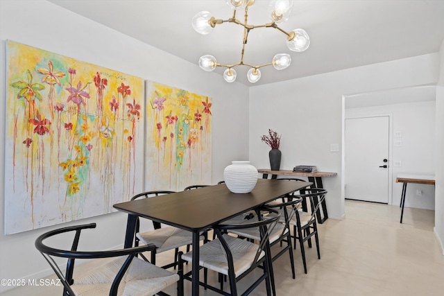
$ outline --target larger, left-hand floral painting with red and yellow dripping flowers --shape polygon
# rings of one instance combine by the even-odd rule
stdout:
[[[143,188],[142,78],[7,42],[5,233],[112,211]]]

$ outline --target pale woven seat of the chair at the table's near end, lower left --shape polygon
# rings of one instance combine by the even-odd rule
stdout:
[[[126,260],[126,256],[117,257],[94,268],[88,275],[75,279],[71,286],[76,295],[110,295],[112,281]],[[144,260],[135,257],[119,284],[119,296],[155,295],[167,286],[179,280],[179,276]]]

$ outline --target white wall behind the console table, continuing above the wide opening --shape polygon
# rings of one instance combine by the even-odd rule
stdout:
[[[338,173],[325,178],[324,185],[329,216],[342,218],[342,153],[331,153],[330,144],[342,143],[343,94],[436,84],[438,64],[438,53],[432,53],[250,87],[250,161],[269,167],[269,149],[260,137],[273,128],[282,134],[282,169],[314,164]]]

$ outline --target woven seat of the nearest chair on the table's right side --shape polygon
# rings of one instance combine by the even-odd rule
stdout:
[[[223,238],[228,243],[228,247],[230,247],[232,252],[234,274],[238,277],[251,267],[259,246],[244,239],[229,236],[228,234],[223,234]],[[264,255],[265,252],[262,251],[259,254],[259,259]],[[193,251],[182,255],[182,259],[185,261],[191,262],[192,257]],[[221,272],[223,275],[228,275],[228,260],[219,238],[199,247],[199,265],[216,272]]]

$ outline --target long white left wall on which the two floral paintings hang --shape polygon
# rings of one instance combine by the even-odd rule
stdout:
[[[233,159],[248,159],[248,87],[225,83],[216,73],[202,71],[198,65],[148,46],[64,8],[41,0],[0,1],[0,101],[5,102],[6,40],[35,46],[77,60],[97,64],[165,85],[187,89],[212,98],[212,183],[223,180],[223,168]],[[4,103],[3,103],[4,104]],[[4,105],[3,105],[4,106]],[[0,166],[4,167],[5,108],[0,108]],[[4,171],[0,172],[1,188]],[[3,191],[0,193],[3,213]],[[96,222],[93,234],[85,232],[85,247],[104,250],[123,243],[126,215],[113,213],[67,223]],[[3,229],[3,215],[0,229]],[[59,226],[60,227],[60,226]],[[0,234],[0,279],[36,279],[49,274],[49,265],[35,250],[34,241],[46,227],[10,236]],[[111,235],[108,235],[111,234]],[[8,287],[0,287],[0,293]]]

